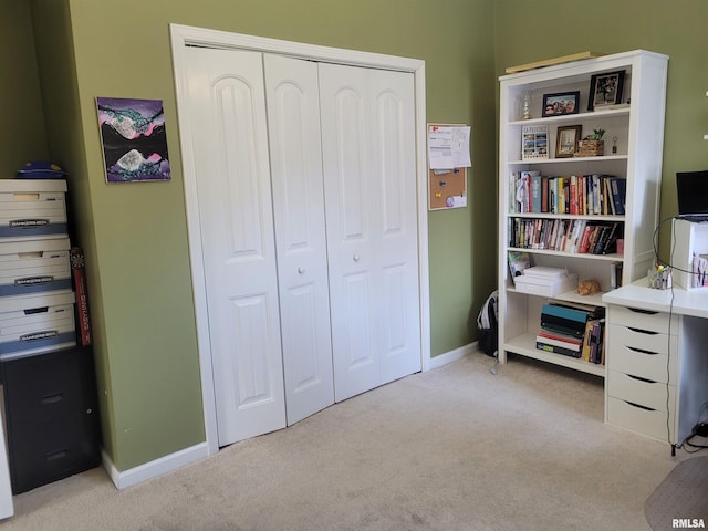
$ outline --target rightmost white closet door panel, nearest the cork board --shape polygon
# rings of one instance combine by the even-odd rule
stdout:
[[[383,381],[420,371],[420,301],[415,187],[413,74],[369,71],[372,171],[368,187],[381,296]]]

